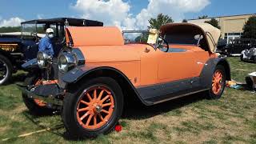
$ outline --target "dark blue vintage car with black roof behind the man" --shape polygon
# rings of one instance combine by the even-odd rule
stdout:
[[[8,82],[13,72],[38,54],[38,40],[47,28],[53,28],[54,50],[65,44],[66,26],[103,26],[102,22],[78,18],[37,19],[22,22],[22,31],[0,34],[0,85]],[[56,55],[58,56],[58,55]]]

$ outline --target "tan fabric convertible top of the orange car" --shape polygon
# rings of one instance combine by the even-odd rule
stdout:
[[[206,46],[210,52],[214,53],[217,44],[218,38],[221,36],[221,30],[211,26],[208,23],[198,22],[198,23],[169,23],[161,27],[162,34],[166,34],[167,32],[178,31],[178,30],[188,30],[187,32],[202,34],[204,38],[206,38]]]

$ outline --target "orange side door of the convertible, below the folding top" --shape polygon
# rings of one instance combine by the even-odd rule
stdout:
[[[158,82],[174,82],[197,77],[197,64],[192,50],[170,48],[158,55]]]

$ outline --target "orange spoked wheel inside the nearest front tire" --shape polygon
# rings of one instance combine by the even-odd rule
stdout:
[[[78,123],[86,130],[105,126],[114,112],[114,95],[106,86],[84,90],[77,105]]]

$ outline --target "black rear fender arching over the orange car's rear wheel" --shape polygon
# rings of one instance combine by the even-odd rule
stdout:
[[[226,58],[210,58],[203,66],[200,74],[200,82],[204,88],[208,89],[211,87],[214,70],[218,65],[224,66],[226,71],[226,80],[231,80],[230,64],[227,62]]]

